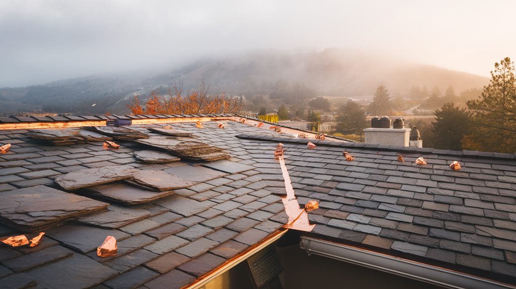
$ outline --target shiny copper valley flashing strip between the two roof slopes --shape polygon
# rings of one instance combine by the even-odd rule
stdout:
[[[285,190],[287,192],[286,197],[282,197],[283,206],[285,206],[285,212],[288,215],[288,223],[283,226],[287,229],[295,229],[299,231],[311,232],[315,224],[310,224],[308,221],[308,213],[303,208],[299,208],[296,194],[294,193],[294,187],[292,181],[288,175],[287,166],[285,165],[285,159],[283,156],[279,158],[281,172],[283,173],[283,179],[285,180]]]

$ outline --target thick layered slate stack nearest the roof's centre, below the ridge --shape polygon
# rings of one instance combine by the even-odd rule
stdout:
[[[189,160],[217,161],[230,158],[230,155],[222,151],[222,148],[191,139],[176,140],[154,137],[136,140],[136,142],[153,148],[164,149],[174,156]]]

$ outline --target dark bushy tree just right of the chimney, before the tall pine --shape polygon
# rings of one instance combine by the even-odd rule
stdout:
[[[471,126],[470,113],[459,109],[453,103],[445,103],[436,109],[436,121],[432,122],[433,145],[435,148],[461,150],[461,140]]]

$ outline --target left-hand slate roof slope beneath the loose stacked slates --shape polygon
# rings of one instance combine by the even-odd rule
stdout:
[[[66,224],[44,229],[42,244],[34,248],[0,243],[1,287],[83,288],[102,284],[109,288],[173,288],[192,283],[237,254],[260,243],[287,222],[281,198],[284,181],[273,159],[275,144],[235,138],[259,129],[238,122],[169,124],[189,130],[199,140],[224,148],[232,158],[219,162],[138,162],[133,152],[148,147],[118,142],[117,150],[102,143],[46,145],[27,137],[27,130],[0,130],[0,143],[10,143],[0,155],[0,197],[19,188],[49,186],[61,190],[56,176],[81,169],[129,165],[139,169],[175,169],[193,179],[205,180],[172,195],[134,206],[113,200],[109,211],[78,216]],[[133,129],[147,131],[133,125]],[[163,126],[163,125],[154,125]],[[181,166],[186,165],[186,166]],[[69,194],[81,194],[73,191]],[[23,234],[5,224],[0,236]],[[34,232],[36,233],[36,232]],[[118,240],[115,257],[96,256],[107,235]],[[103,286],[103,288],[105,288]]]

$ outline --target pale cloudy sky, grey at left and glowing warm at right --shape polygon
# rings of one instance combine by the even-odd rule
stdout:
[[[516,59],[512,0],[0,0],[0,87],[342,47],[489,76]]]

